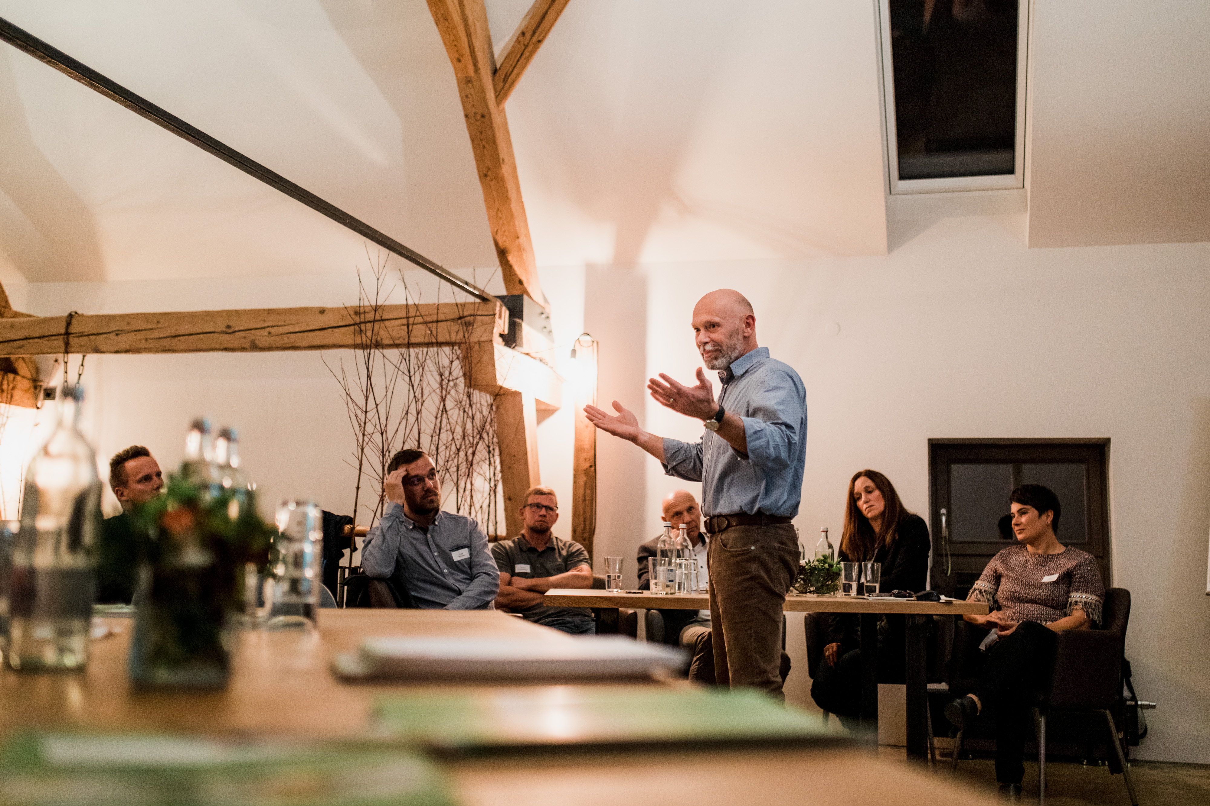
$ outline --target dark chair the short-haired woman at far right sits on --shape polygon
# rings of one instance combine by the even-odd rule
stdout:
[[[1071,630],[1059,634],[1055,665],[1045,690],[1038,696],[1038,802],[1047,795],[1047,717],[1058,713],[1085,713],[1105,718],[1113,760],[1125,778],[1127,791],[1133,806],[1139,806],[1130,766],[1127,764],[1113,712],[1120,709],[1122,663],[1125,659],[1127,627],[1130,622],[1130,591],[1111,587],[1105,591],[1101,626],[1091,630]],[[979,644],[987,634],[981,627],[958,622],[953,632],[951,656],[950,692],[963,696],[974,689],[979,668]],[[957,770],[962,752],[963,732],[958,731],[953,743],[952,770]]]

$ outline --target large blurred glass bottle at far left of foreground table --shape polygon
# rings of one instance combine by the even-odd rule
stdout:
[[[59,424],[25,471],[8,591],[7,661],[19,671],[88,662],[100,477],[79,430],[82,400],[79,385],[65,389]]]

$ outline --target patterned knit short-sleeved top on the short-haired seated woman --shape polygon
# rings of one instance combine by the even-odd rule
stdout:
[[[986,602],[1015,621],[1042,624],[1081,608],[1099,625],[1105,585],[1096,559],[1087,551],[1067,546],[1056,555],[1033,555],[1015,545],[991,558],[967,599]]]

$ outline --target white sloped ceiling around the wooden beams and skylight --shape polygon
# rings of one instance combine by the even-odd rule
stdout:
[[[528,5],[488,0],[497,45]],[[0,16],[433,260],[495,265],[424,0],[0,0]],[[1208,16],[1037,4],[1031,245],[1210,239]],[[541,265],[887,249],[872,2],[572,0],[507,111]],[[361,238],[0,46],[0,279],[358,262]]]

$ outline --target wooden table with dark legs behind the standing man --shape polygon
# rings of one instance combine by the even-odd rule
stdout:
[[[544,602],[552,608],[649,608],[658,610],[707,610],[709,593],[657,595],[650,591],[638,593],[607,593],[597,590],[555,588],[547,591]],[[862,620],[862,721],[876,729],[878,719],[877,678],[877,620],[880,615],[906,616],[906,711],[908,758],[928,758],[928,679],[924,653],[924,625],[932,615],[984,615],[987,605],[983,602],[949,601],[916,602],[893,597],[865,598],[857,596],[790,595],[785,598],[788,613],[857,613]],[[603,617],[603,624],[618,624],[618,619]]]

